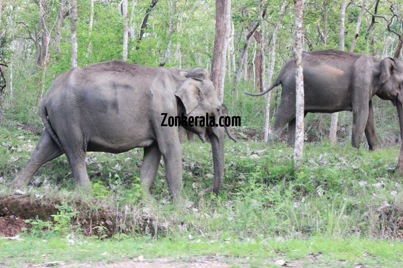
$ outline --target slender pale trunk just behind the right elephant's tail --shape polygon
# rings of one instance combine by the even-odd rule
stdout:
[[[274,64],[276,62],[277,33],[279,31],[286,6],[287,6],[287,0],[283,0],[283,4],[281,5],[280,12],[279,12],[279,18],[277,19],[276,26],[273,29],[272,40],[270,41],[270,38],[267,38],[267,48],[271,47],[270,60],[268,61],[268,69],[267,69],[267,87],[270,86],[270,84],[272,83]],[[272,92],[267,93],[265,96],[266,109],[265,109],[265,116],[264,116],[265,118],[264,118],[264,135],[263,135],[263,139],[265,142],[268,141],[268,134],[270,133],[270,99],[271,99],[271,97],[272,97]],[[277,95],[276,95],[276,97],[277,97]],[[276,106],[277,106],[277,98],[276,98]]]

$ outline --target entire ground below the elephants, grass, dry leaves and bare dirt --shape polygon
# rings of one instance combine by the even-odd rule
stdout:
[[[142,149],[88,153],[91,192],[76,189],[65,156],[40,168],[27,188],[12,190],[8,184],[38,132],[0,127],[0,265],[393,267],[403,261],[398,146],[371,152],[307,143],[304,165],[294,172],[291,147],[255,142],[245,130],[237,133],[243,141],[226,142],[222,191],[200,198],[197,192],[212,181],[211,145],[185,142],[185,202],[175,207],[163,162],[155,200],[142,196]]]

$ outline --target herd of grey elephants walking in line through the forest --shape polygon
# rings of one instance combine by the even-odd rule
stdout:
[[[333,49],[302,55],[305,115],[307,113],[353,112],[352,145],[359,147],[363,135],[372,150],[379,144],[372,108],[377,95],[390,100],[398,112],[403,131],[403,62],[385,57]],[[295,135],[295,70],[289,59],[275,82],[260,96],[282,85],[279,110],[270,140],[279,138],[288,124],[288,142]],[[58,76],[45,94],[40,116],[45,126],[32,156],[17,174],[13,187],[25,186],[45,162],[66,154],[78,185],[90,187],[85,156],[87,151],[120,153],[144,148],[140,177],[146,193],[154,185],[161,156],[164,158],[169,195],[180,198],[182,149],[177,127],[161,126],[162,114],[216,120],[227,115],[219,101],[209,72],[200,67],[150,67],[119,60],[72,68]],[[201,191],[217,193],[224,175],[224,136],[233,138],[227,127],[185,126],[183,132],[210,139],[214,178]]]

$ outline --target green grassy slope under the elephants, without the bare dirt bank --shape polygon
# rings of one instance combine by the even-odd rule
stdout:
[[[30,155],[27,145],[35,145],[38,137],[3,127],[0,140],[5,143],[0,146],[0,176],[8,182],[14,170],[26,163]],[[305,164],[294,173],[292,148],[285,144],[267,147],[262,143],[229,141],[223,190],[218,196],[198,198],[197,191],[211,183],[210,154],[210,144],[183,144],[184,195],[193,202],[189,209],[165,204],[167,189],[162,167],[153,189],[157,202],[144,204],[137,200],[141,149],[118,155],[88,154],[88,171],[97,171],[92,181],[99,181],[94,193],[75,190],[64,156],[45,164],[36,176],[50,183],[30,187],[28,195],[45,193],[46,198],[58,197],[66,202],[79,198],[110,209],[124,204],[137,209],[148,207],[154,219],[167,225],[166,232],[152,239],[138,229],[130,235],[133,238],[120,242],[79,236],[74,246],[68,246],[64,236],[45,237],[44,243],[42,238],[26,235],[23,242],[0,240],[0,262],[41,262],[42,255],[49,255],[47,260],[118,261],[122,256],[139,254],[193,256],[217,251],[236,257],[252,256],[242,260],[251,264],[268,257],[291,262],[300,258],[309,263],[313,260],[308,254],[314,252],[322,252],[320,259],[335,266],[341,265],[340,259],[347,260],[343,262],[347,266],[395,266],[403,261],[401,244],[388,240],[402,234],[401,178],[390,170],[397,162],[398,147],[370,152],[350,146],[307,144]],[[0,196],[10,193],[5,184],[0,186]],[[178,227],[183,224],[185,229]],[[189,240],[188,235],[194,240]]]

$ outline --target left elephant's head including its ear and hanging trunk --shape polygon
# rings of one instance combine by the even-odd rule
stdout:
[[[201,191],[202,195],[208,191],[215,193],[221,187],[224,175],[224,133],[227,132],[228,136],[235,141],[229,128],[221,126],[199,126],[202,120],[206,119],[206,113],[210,117],[214,117],[215,124],[218,124],[221,116],[227,116],[227,108],[219,101],[217,97],[216,88],[211,80],[201,80],[197,78],[187,78],[176,90],[176,97],[178,97],[183,104],[183,114],[185,116],[198,117],[197,126],[187,126],[187,130],[196,133],[198,137],[205,142],[205,135],[209,136],[212,144],[213,163],[214,163],[214,180],[213,184]]]

